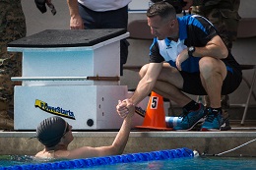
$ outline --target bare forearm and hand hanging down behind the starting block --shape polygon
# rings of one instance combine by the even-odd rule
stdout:
[[[79,15],[78,0],[67,0],[70,13],[70,28],[83,29],[84,23]]]

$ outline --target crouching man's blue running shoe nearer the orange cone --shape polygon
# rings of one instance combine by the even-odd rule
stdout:
[[[189,131],[192,130],[193,127],[205,121],[205,106],[200,103],[199,109],[196,111],[190,111],[183,113],[180,117],[181,121],[176,123],[176,126],[173,127],[175,131]]]

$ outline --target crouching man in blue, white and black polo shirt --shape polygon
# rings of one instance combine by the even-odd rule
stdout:
[[[138,104],[154,90],[183,108],[174,130],[191,130],[202,121],[201,131],[219,131],[221,95],[240,85],[239,64],[207,19],[197,15],[176,18],[175,9],[165,1],[153,4],[147,17],[156,37],[150,47],[150,64],[141,69],[142,79],[130,99]],[[210,107],[186,93],[209,95]],[[117,107],[117,111],[123,114],[125,108]]]

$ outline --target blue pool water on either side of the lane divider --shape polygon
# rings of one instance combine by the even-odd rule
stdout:
[[[12,157],[12,160],[0,160],[0,167],[22,164],[38,163],[32,157]],[[83,168],[85,169],[85,168]],[[86,169],[91,170],[255,170],[256,157],[218,157],[200,156],[193,158],[173,158],[168,160],[156,160],[148,162],[117,163],[113,165],[99,165]]]

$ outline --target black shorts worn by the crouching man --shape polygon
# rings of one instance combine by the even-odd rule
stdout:
[[[201,83],[200,73],[188,73],[181,71],[180,74],[184,80],[184,85],[181,89],[182,91],[194,95],[207,95],[207,92]],[[222,87],[222,95],[233,92],[240,85],[241,81],[242,76],[240,71],[227,71]]]

